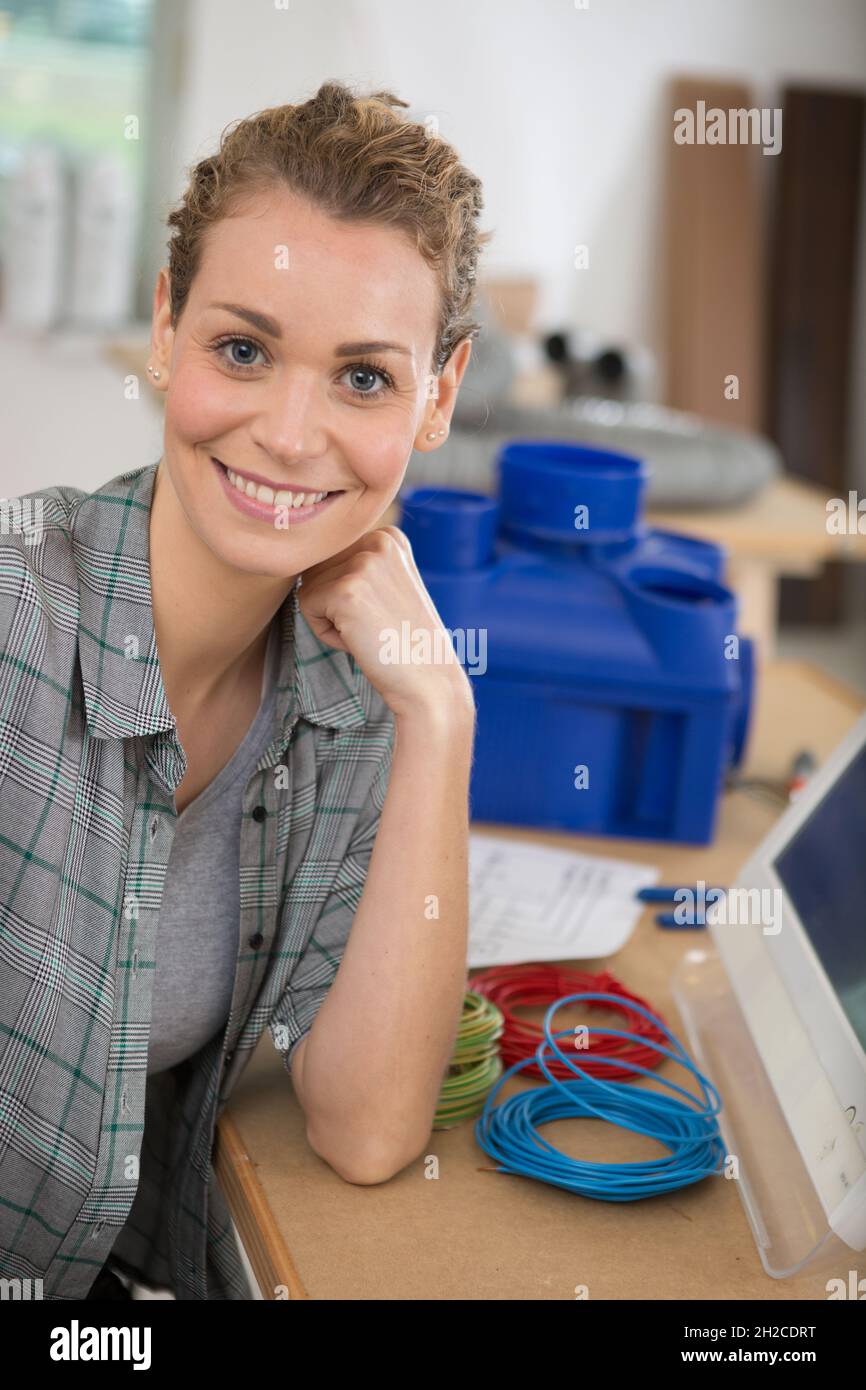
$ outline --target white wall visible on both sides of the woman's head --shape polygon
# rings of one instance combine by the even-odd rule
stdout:
[[[185,167],[229,121],[303,100],[334,76],[391,88],[418,117],[438,117],[484,182],[484,225],[496,234],[485,268],[538,275],[544,325],[573,321],[657,348],[667,76],[746,78],[760,104],[781,81],[866,82],[866,0],[589,0],[588,10],[571,0],[156,3],[165,21],[161,93],[146,120],[163,192],[147,204],[147,314]],[[575,242],[591,247],[589,271],[571,268]],[[866,306],[866,257],[862,284]],[[866,311],[860,322],[859,381]],[[3,335],[0,361],[1,496],[53,482],[97,486],[158,457],[147,391],[142,403],[124,400],[122,374],[95,345]],[[859,388],[855,402],[866,489]]]

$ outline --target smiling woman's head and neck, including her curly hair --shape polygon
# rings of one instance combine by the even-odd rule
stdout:
[[[489,234],[475,225],[478,179],[395,115],[405,104],[327,82],[303,106],[239,121],[168,217],[150,541],[178,699],[234,682],[239,660],[256,678],[293,580],[370,532],[411,450],[448,431]],[[168,614],[178,592],[186,617],[174,599]]]

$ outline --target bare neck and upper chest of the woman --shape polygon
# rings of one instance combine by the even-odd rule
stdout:
[[[188,709],[261,678],[274,614],[293,578],[243,574],[192,531],[160,461],[150,507],[150,587],[170,706]]]

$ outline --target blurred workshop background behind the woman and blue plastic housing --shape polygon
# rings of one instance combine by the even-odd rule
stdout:
[[[325,78],[453,142],[495,232],[452,438],[407,482],[489,491],[517,436],[637,453],[762,655],[866,694],[863,0],[0,0],[0,496],[158,460],[185,170]],[[763,133],[678,143],[683,108]]]

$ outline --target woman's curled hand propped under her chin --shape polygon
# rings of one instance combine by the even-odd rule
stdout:
[[[320,641],[354,657],[396,716],[474,716],[468,677],[398,527],[368,531],[304,570],[299,607]]]

